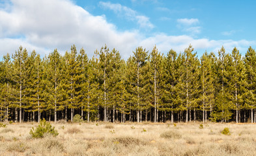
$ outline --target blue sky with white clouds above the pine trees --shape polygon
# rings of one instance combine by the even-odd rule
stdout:
[[[190,44],[201,57],[256,47],[256,1],[0,0],[0,57],[23,46],[42,57],[75,44],[92,57],[105,44],[128,59],[136,47],[168,53]]]

